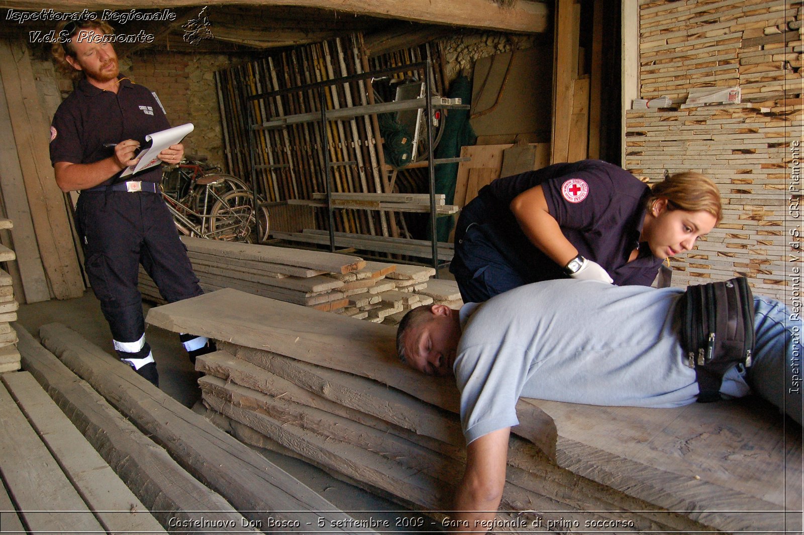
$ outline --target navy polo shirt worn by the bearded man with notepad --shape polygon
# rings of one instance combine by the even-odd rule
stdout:
[[[113,93],[96,88],[84,78],[53,116],[51,163],[95,163],[114,154],[114,149],[106,148],[105,143],[126,139],[144,143],[146,135],[167,128],[170,123],[150,89],[120,78],[118,91]],[[115,183],[119,176],[117,173],[100,185]],[[162,169],[151,167],[129,176],[158,183]]]

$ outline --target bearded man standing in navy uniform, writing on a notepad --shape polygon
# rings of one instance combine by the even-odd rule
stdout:
[[[108,23],[68,21],[56,28],[55,63],[78,81],[53,117],[51,163],[62,191],[80,191],[76,227],[92,290],[100,300],[121,360],[158,385],[158,372],[145,340],[139,264],[168,302],[203,294],[187,249],[157,184],[161,167],[120,178],[137,163],[147,134],[170,128],[162,104],[149,89],[120,76]],[[159,159],[178,163],[180,143]],[[124,181],[125,180],[125,181]],[[191,360],[214,351],[203,336],[181,335]]]

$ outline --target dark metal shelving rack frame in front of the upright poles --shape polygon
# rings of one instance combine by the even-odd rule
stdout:
[[[385,68],[381,70],[375,71],[367,71],[367,72],[360,72],[358,74],[353,74],[350,76],[342,76],[339,78],[334,78],[332,80],[322,80],[319,82],[314,82],[311,84],[305,85],[298,85],[293,88],[285,88],[285,89],[278,89],[276,91],[271,91],[268,93],[257,93],[255,95],[248,95],[245,94],[244,88],[244,102],[246,105],[246,117],[247,117],[247,126],[248,126],[248,141],[249,141],[249,168],[251,174],[251,181],[252,181],[252,189],[256,191],[256,171],[258,169],[266,168],[266,167],[274,167],[274,166],[256,166],[256,157],[254,154],[256,143],[254,140],[254,133],[256,130],[265,130],[265,129],[280,129],[285,128],[286,126],[299,124],[303,122],[318,122],[321,128],[321,135],[322,135],[322,146],[324,146],[324,171],[325,171],[325,186],[326,186],[326,207],[327,207],[327,215],[329,220],[329,234],[330,234],[330,251],[334,252],[335,250],[335,235],[334,235],[334,209],[338,207],[334,207],[332,205],[332,167],[335,165],[344,165],[346,163],[343,162],[331,162],[330,161],[330,154],[329,150],[326,150],[326,146],[328,146],[329,138],[328,138],[328,129],[326,128],[328,121],[334,120],[349,120],[355,117],[361,117],[363,115],[370,115],[374,113],[390,113],[396,112],[405,109],[425,109],[427,120],[425,124],[427,125],[427,167],[428,167],[428,175],[429,175],[429,199],[430,199],[430,228],[431,228],[431,244],[432,244],[432,257],[433,257],[433,267],[438,270],[440,267],[444,267],[444,265],[439,265],[438,263],[438,241],[437,241],[437,206],[436,206],[436,197],[435,197],[435,166],[443,164],[443,163],[456,163],[465,160],[466,158],[440,158],[435,159],[433,158],[433,110],[434,109],[469,109],[469,105],[461,105],[461,104],[433,104],[433,71],[432,71],[433,62],[429,56],[429,50],[427,59],[425,61],[420,61],[414,64],[406,64],[400,67],[393,67],[393,68]],[[395,101],[395,102],[384,102],[384,103],[377,103],[377,104],[369,104],[369,105],[359,105],[359,106],[351,106],[348,108],[340,108],[340,109],[326,109],[326,93],[325,89],[329,88],[333,85],[338,84],[347,84],[350,82],[355,82],[359,80],[371,80],[374,78],[379,78],[381,76],[393,75],[398,72],[407,72],[407,71],[416,71],[423,69],[425,72],[425,97],[412,99],[409,101]],[[371,83],[368,84],[371,87]],[[250,105],[254,101],[260,101],[262,99],[269,99],[273,97],[281,97],[282,95],[287,95],[290,93],[298,93],[298,92],[305,92],[305,91],[318,91],[318,102],[319,102],[319,112],[311,112],[311,113],[298,113],[294,115],[285,115],[282,117],[275,117],[269,121],[262,121],[258,122],[253,117],[252,112],[252,105]],[[269,107],[266,107],[269,109]],[[378,145],[379,146],[379,145]],[[445,264],[446,265],[446,264]]]

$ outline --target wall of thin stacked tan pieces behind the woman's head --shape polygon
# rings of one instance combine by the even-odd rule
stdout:
[[[675,109],[626,113],[626,167],[651,181],[665,169],[702,172],[724,201],[719,227],[673,259],[674,286],[746,275],[757,293],[789,303],[800,290],[789,242],[801,231],[791,209],[801,194],[801,21],[802,2],[640,2],[640,97],[667,95]],[[677,109],[690,88],[733,85],[741,105]]]

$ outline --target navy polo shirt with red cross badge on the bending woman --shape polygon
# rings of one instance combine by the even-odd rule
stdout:
[[[538,280],[563,278],[561,267],[536,249],[511,212],[519,193],[541,185],[550,215],[578,252],[602,265],[614,284],[650,286],[662,260],[639,244],[650,188],[621,167],[601,160],[557,163],[494,180],[479,191],[501,237],[519,250]],[[631,252],[638,257],[628,261]]]

